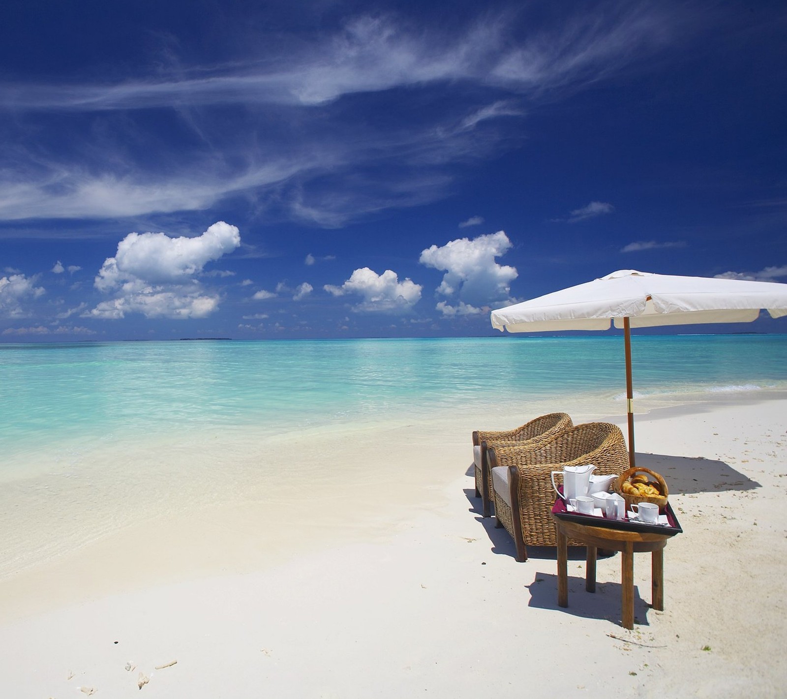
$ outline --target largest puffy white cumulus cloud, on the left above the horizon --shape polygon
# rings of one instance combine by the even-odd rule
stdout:
[[[107,257],[94,286],[113,298],[85,313],[96,318],[204,318],[216,310],[219,296],[206,291],[198,276],[205,264],[240,245],[238,228],[218,221],[194,238],[164,233],[129,233]]]

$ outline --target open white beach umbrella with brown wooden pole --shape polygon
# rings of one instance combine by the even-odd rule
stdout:
[[[634,466],[634,390],[631,327],[749,323],[761,309],[787,315],[787,284],[711,279],[623,269],[492,312],[492,325],[509,332],[608,330],[622,327],[626,342],[629,459]]]

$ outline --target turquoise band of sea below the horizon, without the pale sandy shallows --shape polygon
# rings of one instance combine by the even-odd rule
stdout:
[[[637,397],[787,387],[787,335],[635,336]],[[617,336],[0,345],[0,442],[279,434],[523,399],[621,398]],[[614,405],[612,410],[615,410]]]

